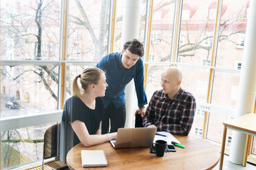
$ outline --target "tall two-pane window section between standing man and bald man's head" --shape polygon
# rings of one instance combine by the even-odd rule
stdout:
[[[170,62],[171,38],[175,1],[153,1],[149,62]],[[168,66],[149,64],[147,70],[147,99],[161,88],[161,73]]]

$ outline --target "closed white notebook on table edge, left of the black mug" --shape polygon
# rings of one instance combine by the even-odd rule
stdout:
[[[82,167],[105,167],[107,157],[103,150],[81,150]]]

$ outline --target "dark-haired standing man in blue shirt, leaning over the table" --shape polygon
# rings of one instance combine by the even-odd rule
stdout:
[[[136,94],[138,98],[138,110],[141,116],[145,114],[144,105],[147,104],[144,82],[144,66],[142,56],[144,48],[140,41],[134,39],[125,42],[122,52],[109,53],[103,57],[96,67],[103,69],[106,74],[107,87],[103,105],[105,117],[102,121],[102,134],[117,132],[119,127],[125,127],[125,86],[134,78]]]

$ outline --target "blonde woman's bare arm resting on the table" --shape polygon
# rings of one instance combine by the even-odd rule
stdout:
[[[82,121],[73,121],[71,123],[71,126],[74,132],[76,133],[76,136],[78,136],[79,141],[81,141],[81,143],[85,147],[105,143],[112,139],[116,139],[116,132],[110,134],[89,134],[87,127],[85,126],[85,123],[83,123]],[[101,129],[101,125],[99,128]]]

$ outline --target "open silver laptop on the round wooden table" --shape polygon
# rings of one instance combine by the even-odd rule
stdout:
[[[150,147],[157,127],[119,128],[116,140],[110,143],[114,148]]]

